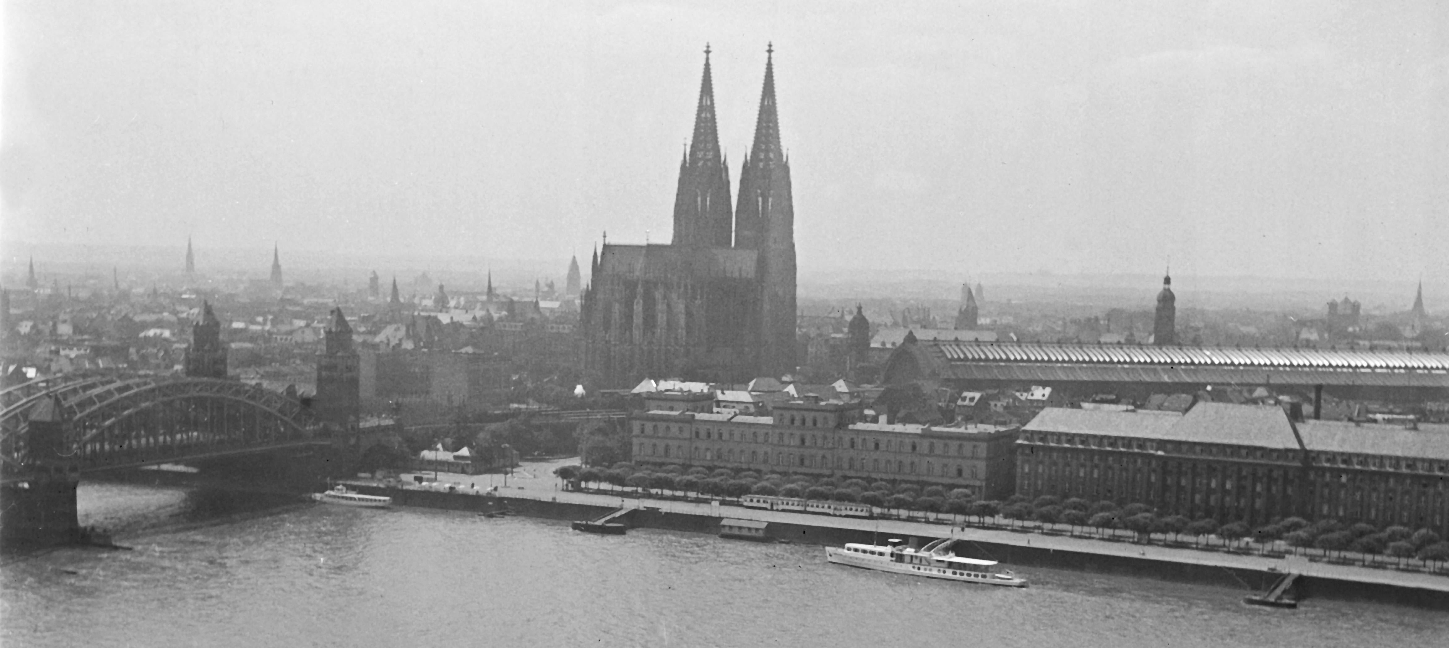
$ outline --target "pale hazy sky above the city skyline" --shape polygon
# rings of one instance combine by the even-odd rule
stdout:
[[[774,40],[803,272],[1171,257],[1449,281],[1442,0],[42,0],[3,19],[12,243],[665,242],[704,43],[738,179]]]

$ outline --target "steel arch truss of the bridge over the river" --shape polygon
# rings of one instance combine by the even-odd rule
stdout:
[[[61,406],[58,432],[30,430],[30,412],[43,401]],[[85,473],[330,443],[296,398],[210,378],[43,378],[0,391],[0,406],[6,483],[57,466]],[[42,438],[52,434],[61,438]],[[55,448],[54,456],[32,447]]]

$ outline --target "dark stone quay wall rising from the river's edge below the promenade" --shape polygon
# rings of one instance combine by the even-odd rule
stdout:
[[[478,496],[467,493],[448,493],[436,490],[383,487],[368,483],[349,483],[358,492],[367,495],[387,495],[400,506],[420,506],[451,511],[472,511],[488,513],[509,511],[516,515],[546,518],[546,519],[594,519],[617,509],[619,498],[597,498],[596,502],[569,500],[571,495],[559,493],[564,500],[535,499],[498,493],[496,496]],[[607,503],[606,503],[607,502]],[[1227,558],[1222,554],[1203,553],[1203,560],[1174,558],[1171,551],[1161,547],[1142,547],[1140,555],[1123,555],[1127,551],[1137,551],[1139,545],[1117,544],[1117,551],[1097,551],[1093,541],[1049,537],[1042,534],[1022,534],[1007,531],[977,529],[972,526],[946,526],[923,522],[903,521],[874,521],[874,519],[845,519],[829,518],[811,513],[791,512],[762,512],[738,506],[681,505],[680,502],[627,499],[626,506],[635,508],[627,516],[627,524],[633,528],[653,528],[668,531],[684,531],[696,534],[717,534],[720,521],[724,518],[762,518],[767,538],[810,545],[840,545],[845,542],[884,542],[888,538],[917,541],[920,544],[930,540],[953,535],[964,541],[964,555],[972,558],[997,560],[1013,567],[1051,567],[1065,570],[1093,571],[1104,574],[1151,577],[1161,580],[1204,583],[1222,587],[1240,589],[1243,593],[1266,590],[1284,571],[1300,571],[1293,563],[1277,566],[1277,571],[1268,568],[1271,558],[1262,558],[1253,566],[1222,564],[1214,558]],[[952,529],[958,529],[952,532]],[[1007,538],[1001,538],[1006,535]],[[1069,545],[1065,547],[1064,545]],[[1151,553],[1151,554],[1149,554]],[[1307,567],[1307,566],[1306,566]],[[1306,574],[1298,579],[1297,593],[1300,597],[1323,597],[1337,600],[1368,600],[1379,603],[1408,605],[1416,608],[1432,608],[1449,610],[1449,577],[1426,576],[1439,579],[1443,583],[1423,587],[1414,583],[1391,583],[1381,570],[1364,570],[1378,579],[1355,580],[1348,577],[1332,577],[1321,574]]]

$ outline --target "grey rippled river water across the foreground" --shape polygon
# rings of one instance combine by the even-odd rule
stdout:
[[[1449,615],[1026,568],[1029,589],[832,566],[819,547],[84,483],[133,551],[7,557],[19,647],[1443,647]]]

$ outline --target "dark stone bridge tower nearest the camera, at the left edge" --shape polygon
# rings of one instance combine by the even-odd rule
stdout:
[[[77,540],[75,485],[80,470],[67,453],[65,408],[59,396],[30,408],[28,434],[30,479],[6,483],[0,542],[52,545]]]

